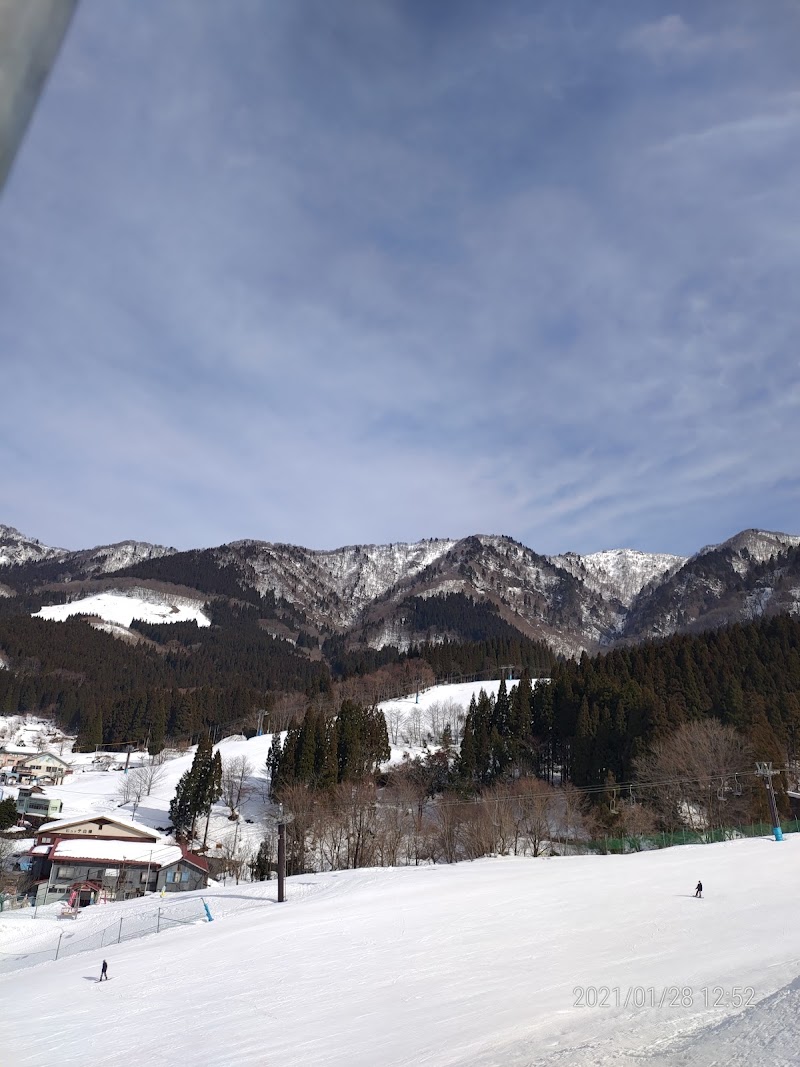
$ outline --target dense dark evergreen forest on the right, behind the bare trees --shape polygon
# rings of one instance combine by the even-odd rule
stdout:
[[[476,702],[460,770],[474,785],[509,774],[593,786],[629,782],[637,760],[687,724],[733,728],[754,759],[783,767],[800,747],[800,621],[779,616],[674,636],[554,666],[511,697]],[[741,769],[741,768],[738,768]]]

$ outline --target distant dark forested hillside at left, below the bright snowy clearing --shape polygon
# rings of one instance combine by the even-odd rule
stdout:
[[[0,652],[9,665],[0,670],[0,712],[53,715],[89,748],[149,738],[156,751],[165,737],[253,727],[259,710],[268,713],[268,729],[285,729],[285,708],[279,718],[274,713],[282,700],[289,700],[290,717],[302,715],[317,698],[333,701],[336,686],[348,682],[351,695],[369,702],[380,692],[368,684],[369,676],[393,665],[418,664],[412,675],[430,682],[445,674],[490,676],[506,665],[541,673],[555,662],[545,646],[511,627],[505,637],[421,644],[406,652],[349,651],[337,638],[320,649],[318,638],[305,631],[291,641],[265,628],[274,621],[270,596],[257,603],[212,601],[209,627],[134,622],[131,634],[139,636],[133,641],[82,618],[33,619],[29,611],[37,605],[26,596],[0,605]],[[382,682],[384,689],[390,684],[390,678]]]

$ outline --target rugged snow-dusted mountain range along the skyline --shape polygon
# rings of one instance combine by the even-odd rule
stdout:
[[[0,596],[36,607],[98,592],[256,605],[265,628],[307,648],[333,636],[349,648],[402,650],[483,636],[489,620],[574,656],[800,614],[800,536],[749,529],[690,557],[630,548],[543,555],[498,535],[332,551],[243,540],[186,552],[139,541],[76,552],[0,525]]]

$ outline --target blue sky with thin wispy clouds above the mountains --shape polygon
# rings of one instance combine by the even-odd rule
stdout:
[[[794,0],[82,0],[0,196],[0,522],[800,532],[798,39]]]

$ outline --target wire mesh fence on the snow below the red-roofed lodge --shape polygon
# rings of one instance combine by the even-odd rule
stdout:
[[[90,910],[94,912],[97,907],[101,907],[101,905],[94,905]],[[65,924],[69,922],[66,918],[62,921]],[[155,909],[134,911],[84,937],[80,936],[80,927],[77,929],[64,928],[58,934],[54,933],[51,943],[43,947],[26,949],[20,945],[17,951],[0,952],[0,973],[34,967],[36,964],[62,959],[64,956],[73,956],[81,952],[93,952],[108,945],[119,944],[123,941],[133,941],[146,937],[148,934],[160,934],[161,930],[175,926],[193,925],[205,921],[207,921],[207,914],[204,902],[193,897],[191,901],[180,901]]]

